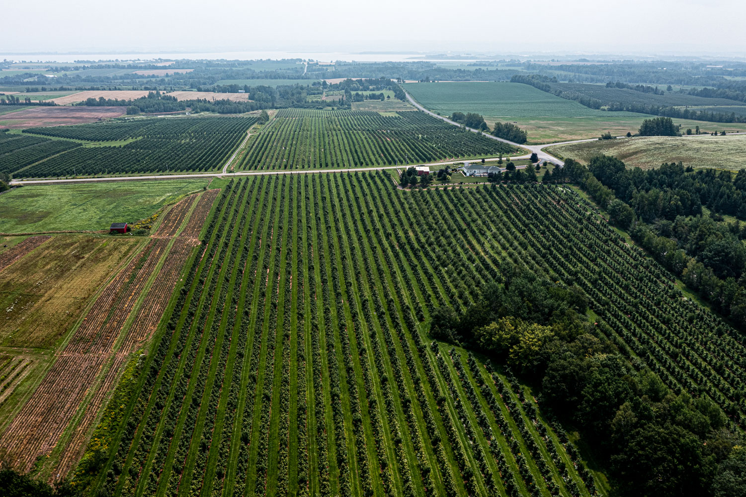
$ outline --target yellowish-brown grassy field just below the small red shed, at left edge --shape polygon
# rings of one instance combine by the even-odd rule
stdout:
[[[27,240],[40,238],[51,240],[2,272],[1,346],[54,348],[98,287],[142,243],[88,235]]]

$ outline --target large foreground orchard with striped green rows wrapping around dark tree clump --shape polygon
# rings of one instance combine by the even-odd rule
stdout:
[[[233,181],[216,204],[206,250],[122,407],[128,422],[105,435],[93,490],[604,492],[529,387],[427,338],[436,307],[468,307],[506,261],[577,284],[599,336],[675,391],[699,385],[725,406],[746,376],[733,331],[677,296],[661,266],[568,187],[408,192],[380,171],[260,175]]]

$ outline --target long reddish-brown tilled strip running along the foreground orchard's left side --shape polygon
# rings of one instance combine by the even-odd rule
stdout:
[[[193,215],[204,223],[216,198],[213,191],[219,190],[191,196],[175,204],[169,211],[173,212],[173,222],[162,221],[163,227],[168,228],[167,232],[175,234],[185,223],[189,234],[195,230],[198,232],[201,224],[196,228],[191,219],[186,219],[187,214],[192,204],[198,201]],[[164,218],[168,218],[169,213]],[[161,235],[164,233],[166,231]],[[114,240],[98,237],[96,240],[105,241],[106,245],[125,241],[138,243],[136,238]],[[142,239],[139,241],[141,243]],[[60,454],[59,460],[53,458],[48,463],[42,462],[44,471],[50,478],[56,478],[57,474],[68,475],[75,468],[84,453],[98,411],[116,385],[122,365],[132,353],[147,346],[184,271],[186,260],[196,246],[198,241],[191,236],[175,239],[153,237],[145,246],[140,245],[136,256],[105,285],[80,327],[63,351],[57,353],[54,365],[39,387],[19,407],[18,415],[0,437],[0,447],[6,448],[9,460],[16,468],[28,471],[38,457],[51,454],[60,443],[64,445],[55,451]],[[148,280],[161,261],[160,272],[145,292]],[[16,269],[16,266],[19,265],[14,264],[11,269]],[[83,270],[75,273],[87,274]],[[54,269],[49,276],[54,277]],[[4,367],[4,359],[0,356],[0,372]],[[87,401],[81,410],[84,399]],[[60,439],[68,428],[69,436]]]

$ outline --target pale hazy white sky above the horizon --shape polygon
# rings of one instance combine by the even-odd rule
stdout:
[[[561,51],[746,55],[744,0],[37,0],[0,53]],[[730,21],[728,20],[730,19]],[[10,20],[10,19],[9,19]]]

